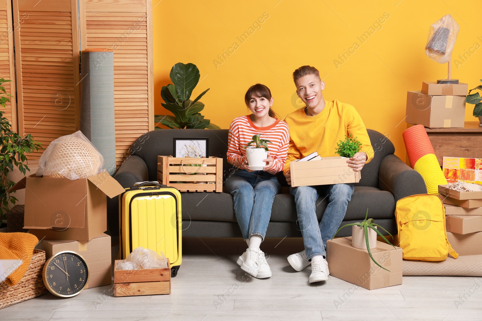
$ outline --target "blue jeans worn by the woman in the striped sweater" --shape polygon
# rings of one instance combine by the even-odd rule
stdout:
[[[224,186],[234,196],[234,213],[243,239],[259,234],[264,240],[274,196],[281,190],[276,176],[262,170],[237,169]]]

